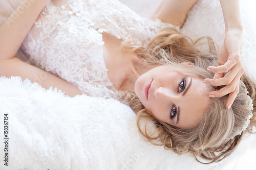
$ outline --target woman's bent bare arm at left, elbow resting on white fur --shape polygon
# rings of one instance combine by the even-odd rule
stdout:
[[[14,57],[42,8],[49,2],[25,0],[0,28],[0,76],[20,76],[22,80],[29,79],[46,89],[56,87],[69,96],[82,94],[76,85]]]

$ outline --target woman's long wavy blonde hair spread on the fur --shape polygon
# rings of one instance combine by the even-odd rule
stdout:
[[[198,45],[203,44],[200,43],[203,39],[207,40],[204,43],[209,46],[207,54],[200,52],[197,48]],[[212,72],[206,70],[208,66],[217,63],[217,46],[209,37],[203,37],[194,42],[173,28],[165,28],[152,38],[147,47],[135,45],[132,40],[123,41],[122,45],[126,51],[136,52],[147,63],[174,65],[192,62],[195,65],[183,65],[183,71],[197,74],[202,80],[214,76]],[[223,87],[218,89],[212,87],[212,90]],[[212,163],[230,155],[238,146],[244,133],[252,133],[252,127],[256,126],[255,87],[252,81],[243,76],[240,80],[238,96],[232,107],[229,110],[225,107],[228,95],[210,99],[200,123],[190,129],[177,128],[157,119],[141,104],[134,91],[120,92],[119,96],[120,100],[137,114],[138,129],[147,141],[155,145],[164,145],[165,149],[179,155],[191,153],[197,161],[199,161],[197,157],[201,157],[207,160],[205,163]],[[250,99],[254,104],[250,125],[245,132],[237,135],[251,113]],[[154,128],[148,128],[152,123]]]

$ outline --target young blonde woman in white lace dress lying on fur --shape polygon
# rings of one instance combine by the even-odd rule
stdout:
[[[195,2],[163,1],[152,19],[182,27]],[[247,130],[255,125],[255,85],[244,76],[240,81],[239,2],[221,5],[226,37],[217,62],[210,39],[210,52],[203,54],[189,38],[166,28],[171,27],[167,23],[142,18],[117,1],[25,0],[16,10],[18,18],[11,15],[1,27],[0,73],[32,82],[44,75],[41,86],[57,87],[69,96],[117,98],[137,113],[140,132],[152,143],[160,141],[178,154],[221,160],[236,148],[249,119]],[[22,6],[27,9],[19,12]],[[22,42],[34,66],[14,57]],[[142,118],[155,123],[154,133],[140,128]]]

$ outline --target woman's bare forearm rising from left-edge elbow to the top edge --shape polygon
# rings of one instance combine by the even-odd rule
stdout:
[[[0,28],[0,61],[14,57],[50,0],[25,0]]]

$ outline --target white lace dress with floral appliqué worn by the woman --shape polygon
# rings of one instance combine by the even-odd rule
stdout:
[[[29,63],[76,84],[83,94],[111,98],[115,88],[103,60],[102,32],[146,45],[161,28],[117,0],[50,2],[26,37],[22,50]]]

